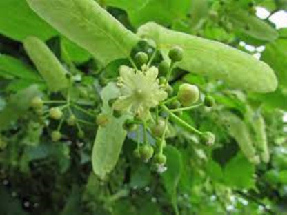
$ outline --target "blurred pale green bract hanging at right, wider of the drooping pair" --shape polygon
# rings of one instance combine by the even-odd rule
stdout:
[[[237,141],[242,153],[248,161],[255,164],[259,163],[259,156],[257,155],[248,127],[244,121],[231,112],[223,112],[221,117],[226,124],[228,133]]]

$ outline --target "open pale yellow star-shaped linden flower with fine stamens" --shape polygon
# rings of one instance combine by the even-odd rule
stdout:
[[[156,107],[168,94],[159,86],[158,70],[154,66],[134,69],[122,65],[119,68],[117,86],[121,88],[121,96],[115,101],[113,109],[117,111],[132,111],[140,119],[150,117],[150,108]]]

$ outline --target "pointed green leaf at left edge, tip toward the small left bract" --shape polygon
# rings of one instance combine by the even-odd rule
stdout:
[[[35,70],[29,68],[22,61],[5,54],[0,54],[0,71],[3,72],[2,74],[8,74],[14,78],[41,81]]]

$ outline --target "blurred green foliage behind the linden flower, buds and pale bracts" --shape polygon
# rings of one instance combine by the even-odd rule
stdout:
[[[287,10],[287,1],[98,3],[133,32],[155,21],[253,54],[275,70],[279,86],[275,92],[256,94],[178,69],[172,79],[174,88],[184,82],[196,84],[216,100],[212,110],[182,116],[200,130],[215,133],[215,145],[204,147],[197,136],[174,125],[177,135],[168,139],[165,150],[167,170],[158,174],[150,164],[132,156],[136,143],[129,134],[115,170],[106,181],[100,181],[92,173],[90,160],[96,125],[84,126],[86,136],[80,138],[77,130],[65,125],[64,139],[55,143],[46,125],[57,125],[53,121],[39,123],[30,112],[29,102],[34,96],[57,99],[59,95],[47,94],[22,42],[29,35],[46,41],[62,65],[78,78],[72,99],[81,101],[94,114],[100,109],[102,83],[117,76],[117,67],[124,60],[101,68],[89,52],[32,12],[25,0],[1,0],[1,214],[287,214],[287,28],[277,29],[269,19]],[[265,8],[268,17],[257,17],[258,7]],[[77,115],[93,120],[81,112]],[[257,117],[265,124],[270,160],[264,162],[261,156],[255,165],[253,154],[248,154],[248,141],[257,141]],[[262,152],[259,147],[255,150]]]

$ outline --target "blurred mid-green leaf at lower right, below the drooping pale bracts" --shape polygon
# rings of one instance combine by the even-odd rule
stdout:
[[[255,187],[255,167],[249,163],[242,154],[237,154],[224,168],[224,181],[226,185],[236,188]]]

